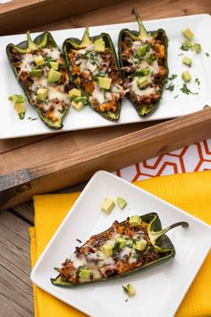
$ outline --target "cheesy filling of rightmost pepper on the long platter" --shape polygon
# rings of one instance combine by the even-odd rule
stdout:
[[[132,40],[126,33],[122,41],[123,71],[126,73],[125,89],[135,102],[149,105],[161,97],[160,84],[165,68],[165,46],[159,39]]]

